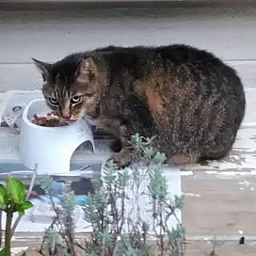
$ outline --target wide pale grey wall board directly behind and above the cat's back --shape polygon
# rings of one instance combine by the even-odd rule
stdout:
[[[30,62],[30,57],[53,62],[110,44],[170,43],[197,46],[223,59],[256,59],[255,15],[250,7],[0,11],[1,62]]]

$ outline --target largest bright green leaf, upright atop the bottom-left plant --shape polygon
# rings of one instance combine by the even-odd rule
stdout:
[[[7,179],[7,190],[14,202],[22,202],[25,196],[25,185],[16,178]]]

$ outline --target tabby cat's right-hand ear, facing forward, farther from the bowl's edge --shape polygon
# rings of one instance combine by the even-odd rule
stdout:
[[[76,78],[78,82],[90,82],[96,74],[96,65],[93,58],[82,58],[76,70]]]

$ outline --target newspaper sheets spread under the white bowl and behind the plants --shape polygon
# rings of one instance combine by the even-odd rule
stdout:
[[[39,90],[34,91],[9,91],[0,94],[0,182],[4,183],[6,178],[14,176],[19,178],[26,185],[26,190],[30,185],[30,178],[33,170],[29,170],[22,165],[18,158],[18,145],[22,113],[25,106],[35,98],[42,98]],[[69,185],[75,194],[76,209],[74,219],[77,232],[90,231],[90,226],[84,220],[82,206],[86,204],[86,196],[93,193],[93,187],[90,182],[92,174],[101,172],[106,160],[110,158],[110,142],[113,138],[102,130],[97,130],[94,134],[95,154],[92,152],[90,143],[84,143],[74,152],[70,161],[70,172],[66,174],[51,174],[54,179],[54,201],[60,202],[62,196],[62,187]],[[180,172],[178,168],[166,169],[167,181],[171,184],[171,194],[181,194]],[[141,190],[146,191],[148,181],[142,183]],[[132,186],[127,191],[129,200],[126,200],[126,213],[129,218],[136,218],[134,204],[136,198]],[[30,201],[34,204],[30,210],[26,210],[26,215],[18,225],[17,231],[40,232],[44,231],[50,225],[54,217],[49,202],[49,198],[40,190],[40,184],[35,184]],[[139,198],[139,205],[142,212],[142,218],[150,223],[150,201],[146,194]],[[47,209],[47,210],[46,210]],[[46,210],[46,211],[45,211]],[[47,214],[46,214],[47,212]],[[14,218],[17,218],[14,214]],[[2,224],[5,223],[5,214],[3,214]],[[181,219],[181,213],[178,212],[178,218]],[[170,226],[175,226],[177,220],[171,219]]]

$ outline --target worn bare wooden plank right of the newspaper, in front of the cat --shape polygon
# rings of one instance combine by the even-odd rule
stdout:
[[[182,223],[188,236],[255,235],[256,178],[182,178],[186,205]]]

